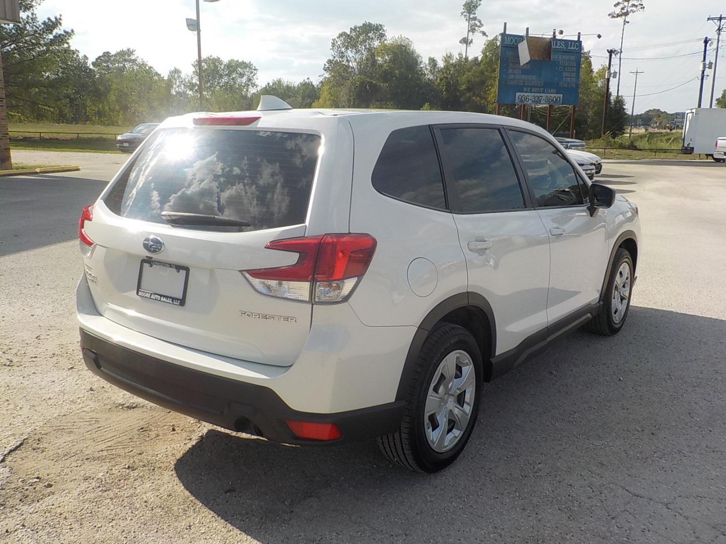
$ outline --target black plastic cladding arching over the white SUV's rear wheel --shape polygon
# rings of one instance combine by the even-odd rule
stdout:
[[[407,384],[415,369],[421,347],[431,331],[441,323],[452,323],[467,329],[479,347],[484,365],[484,381],[492,376],[492,358],[497,353],[497,323],[492,305],[481,294],[465,292],[454,294],[437,304],[423,319],[414,334],[404,362],[396,400],[405,398]]]

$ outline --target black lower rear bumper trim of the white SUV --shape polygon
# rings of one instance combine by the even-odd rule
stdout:
[[[107,342],[81,329],[86,366],[110,384],[169,410],[237,432],[285,444],[331,444],[396,431],[403,402],[338,412],[295,411],[277,393],[256,384],[208,374]],[[300,387],[305,387],[301,384]],[[295,437],[285,420],[334,423],[342,438],[321,442]]]

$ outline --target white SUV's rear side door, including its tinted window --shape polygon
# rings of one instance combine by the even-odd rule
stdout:
[[[497,318],[497,354],[547,327],[550,247],[523,191],[502,128],[436,128],[449,208],[466,256],[469,290]]]

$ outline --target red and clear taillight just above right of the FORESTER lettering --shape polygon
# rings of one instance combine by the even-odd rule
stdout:
[[[325,234],[275,240],[266,249],[298,253],[289,266],[242,271],[257,292],[270,297],[331,304],[348,299],[375,252],[370,234]]]

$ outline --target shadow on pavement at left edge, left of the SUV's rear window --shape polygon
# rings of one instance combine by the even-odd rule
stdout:
[[[0,178],[0,256],[77,238],[81,210],[106,184],[71,176]]]

